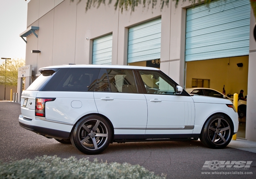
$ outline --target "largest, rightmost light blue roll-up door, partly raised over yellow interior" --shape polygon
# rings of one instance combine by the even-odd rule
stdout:
[[[249,54],[249,0],[218,0],[187,9],[185,61]]]

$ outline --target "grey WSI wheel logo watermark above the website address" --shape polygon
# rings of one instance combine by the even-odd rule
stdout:
[[[249,169],[253,161],[205,161],[202,170],[241,170]]]

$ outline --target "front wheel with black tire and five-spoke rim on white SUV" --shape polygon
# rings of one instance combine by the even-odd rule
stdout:
[[[222,149],[230,143],[233,131],[231,120],[223,114],[216,114],[204,123],[199,138],[209,148]]]

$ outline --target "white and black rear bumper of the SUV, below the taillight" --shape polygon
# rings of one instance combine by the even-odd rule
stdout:
[[[55,122],[26,119],[22,115],[19,116],[19,125],[27,130],[44,135],[51,138],[65,138],[68,139],[72,130],[72,125],[59,124]],[[46,127],[49,126],[49,127]]]

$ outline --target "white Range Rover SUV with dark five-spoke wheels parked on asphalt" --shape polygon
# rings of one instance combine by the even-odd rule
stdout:
[[[155,68],[59,65],[22,92],[19,125],[98,154],[110,143],[200,140],[226,147],[238,114],[226,99],[190,95]]]

